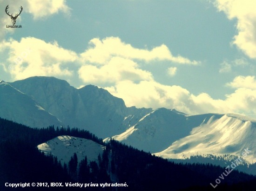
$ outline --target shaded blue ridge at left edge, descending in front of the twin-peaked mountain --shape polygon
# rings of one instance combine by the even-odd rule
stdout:
[[[38,102],[4,81],[0,81],[0,117],[30,127],[63,125]]]

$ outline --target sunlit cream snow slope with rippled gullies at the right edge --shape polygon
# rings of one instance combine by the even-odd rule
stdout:
[[[182,159],[196,154],[233,154],[241,156],[244,149],[251,151],[245,159],[256,162],[256,120],[236,114],[211,116],[190,134],[176,140],[167,149],[155,155]]]

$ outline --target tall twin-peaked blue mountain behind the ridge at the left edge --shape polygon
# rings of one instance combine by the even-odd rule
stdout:
[[[121,124],[128,115],[146,115],[152,111],[127,108],[122,99],[105,89],[93,85],[75,89],[55,77],[34,76],[10,84],[64,124],[87,129],[102,138],[122,133],[125,129]]]

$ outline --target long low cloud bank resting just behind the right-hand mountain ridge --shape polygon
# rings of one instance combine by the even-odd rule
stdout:
[[[122,81],[105,89],[114,96],[121,97],[129,107],[175,108],[190,115],[231,111],[223,104],[225,101],[214,100],[208,94],[194,96],[180,86],[167,86],[155,81],[141,81],[137,84]]]

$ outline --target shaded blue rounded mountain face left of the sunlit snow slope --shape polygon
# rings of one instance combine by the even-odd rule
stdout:
[[[188,136],[193,127],[199,126],[213,115],[219,118],[222,116],[218,114],[188,116],[175,109],[159,108],[141,119],[127,118],[125,121],[136,121],[135,125],[112,138],[143,151],[156,153],[166,149],[176,140]],[[127,123],[132,124],[129,121]]]

